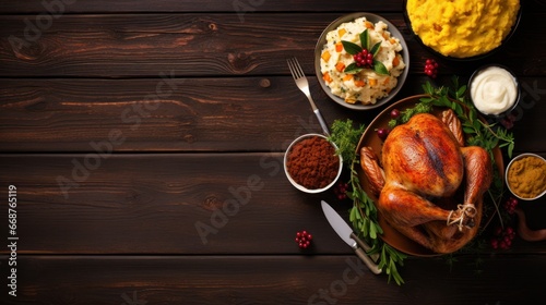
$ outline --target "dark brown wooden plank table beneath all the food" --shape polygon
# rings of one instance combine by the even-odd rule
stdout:
[[[474,255],[452,268],[442,257],[410,257],[397,286],[365,269],[327,223],[320,199],[344,217],[351,202],[287,181],[287,145],[320,132],[288,57],[301,62],[329,123],[368,124],[381,110],[340,107],[313,74],[322,29],[357,11],[403,33],[411,74],[399,97],[420,94],[434,57],[410,35],[400,0],[1,1],[0,303],[544,301],[544,242],[485,249],[478,267]],[[523,0],[501,51],[472,63],[437,58],[437,84],[466,81],[488,62],[515,72],[525,102],[511,130],[515,154],[546,156],[545,16],[544,1]],[[534,229],[546,227],[544,204],[522,204]],[[294,243],[302,229],[314,235],[310,251]]]

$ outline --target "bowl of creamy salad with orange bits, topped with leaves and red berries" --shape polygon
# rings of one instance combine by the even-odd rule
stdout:
[[[333,21],[314,48],[314,72],[339,105],[368,110],[392,100],[407,77],[410,52],[387,19],[352,13]]]

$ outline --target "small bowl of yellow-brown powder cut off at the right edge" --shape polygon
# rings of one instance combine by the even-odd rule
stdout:
[[[534,200],[546,194],[546,160],[536,154],[521,154],[508,163],[508,188],[522,200]]]

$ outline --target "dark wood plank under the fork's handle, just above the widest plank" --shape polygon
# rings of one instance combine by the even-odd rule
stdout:
[[[3,80],[2,151],[282,151],[297,135],[320,132],[290,76],[159,80]],[[468,75],[461,75],[465,82]],[[349,118],[369,124],[381,109],[349,111],[331,101],[309,75],[330,124]],[[399,96],[423,93],[410,77]],[[448,77],[437,80],[447,84]],[[522,77],[515,112],[517,151],[545,151],[546,80]],[[156,102],[158,100],[158,102]],[[110,141],[119,131],[122,141]],[[286,147],[286,145],[284,145]]]

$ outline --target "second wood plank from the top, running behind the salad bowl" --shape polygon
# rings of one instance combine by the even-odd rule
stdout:
[[[494,61],[518,75],[546,71],[542,50],[544,10],[525,12],[518,35],[482,62],[442,61],[440,73],[471,73]],[[313,73],[314,45],[340,13],[251,14],[108,14],[64,15],[44,30],[25,25],[25,15],[0,20],[0,76],[158,77],[287,74],[286,58],[297,56]],[[384,17],[403,33],[411,50],[411,71],[423,75],[431,57],[410,36],[401,13]],[[28,29],[26,28],[28,27]],[[25,36],[26,30],[26,36]],[[282,35],[278,35],[282,33]]]

